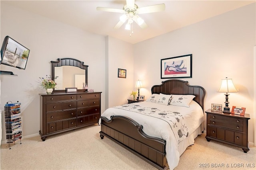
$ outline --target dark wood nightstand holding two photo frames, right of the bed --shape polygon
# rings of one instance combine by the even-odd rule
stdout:
[[[244,116],[214,112],[211,109],[207,113],[206,139],[227,143],[242,148],[245,153],[249,149],[248,144],[248,120],[249,114]]]

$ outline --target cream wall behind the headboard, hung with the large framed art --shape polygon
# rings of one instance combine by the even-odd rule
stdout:
[[[216,92],[222,78],[232,78],[239,94],[230,94],[229,106],[246,107],[250,114],[249,141],[254,143],[255,3],[134,45],[134,80],[143,81],[141,95],[148,98],[160,78],[160,59],[192,54],[192,78],[182,78],[206,90],[204,108],[224,106]]]

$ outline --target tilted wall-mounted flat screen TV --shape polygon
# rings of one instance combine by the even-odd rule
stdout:
[[[9,36],[4,38],[0,64],[25,70],[30,50]]]

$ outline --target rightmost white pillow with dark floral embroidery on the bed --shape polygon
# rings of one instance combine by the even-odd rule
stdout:
[[[170,105],[189,107],[190,102],[195,98],[194,95],[172,95]]]

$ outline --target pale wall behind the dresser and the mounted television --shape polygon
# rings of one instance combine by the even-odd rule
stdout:
[[[7,101],[21,102],[23,136],[40,130],[39,77],[51,73],[50,61],[74,58],[88,65],[88,86],[102,93],[105,110],[105,37],[6,5],[1,2],[1,39],[9,35],[30,49],[26,70],[1,64],[1,70],[18,76],[1,75],[1,109]],[[2,45],[2,44],[1,44]],[[4,125],[4,114],[2,114]],[[5,141],[3,126],[2,140]]]

